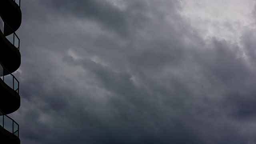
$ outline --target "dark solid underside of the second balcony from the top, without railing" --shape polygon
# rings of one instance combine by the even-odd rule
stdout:
[[[0,32],[0,62],[10,73],[15,72],[21,63],[20,51]]]

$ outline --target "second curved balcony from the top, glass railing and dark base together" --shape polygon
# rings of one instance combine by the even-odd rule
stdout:
[[[20,67],[19,50],[20,39],[0,14],[0,62],[11,73]]]

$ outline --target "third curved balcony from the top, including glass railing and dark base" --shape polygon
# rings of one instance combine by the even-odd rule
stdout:
[[[19,88],[18,80],[0,63],[0,109],[5,114],[20,108]]]

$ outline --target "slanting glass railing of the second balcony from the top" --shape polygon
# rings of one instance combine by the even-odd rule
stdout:
[[[4,19],[0,15],[0,30],[4,34],[4,36],[11,42],[18,50],[20,50],[20,39],[16,35],[16,33],[4,22]]]

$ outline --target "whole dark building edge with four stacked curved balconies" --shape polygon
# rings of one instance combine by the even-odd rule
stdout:
[[[20,144],[19,125],[8,116],[20,107],[19,82],[12,74],[20,67],[20,0],[0,0],[0,144]]]

